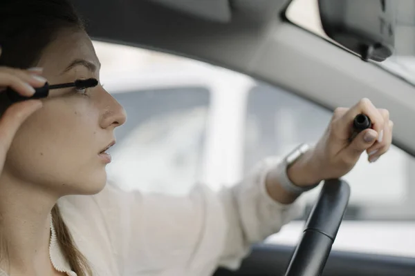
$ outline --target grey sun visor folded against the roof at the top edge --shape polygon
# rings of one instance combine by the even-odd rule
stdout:
[[[229,0],[147,0],[153,3],[219,23],[228,23],[231,19]]]

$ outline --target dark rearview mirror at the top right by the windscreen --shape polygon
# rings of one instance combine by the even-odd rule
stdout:
[[[327,36],[365,61],[394,52],[396,0],[318,0]]]

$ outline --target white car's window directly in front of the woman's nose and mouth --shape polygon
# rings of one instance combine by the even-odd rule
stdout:
[[[117,130],[109,181],[144,193],[186,193],[201,172],[209,90],[133,90],[113,97],[130,119]]]

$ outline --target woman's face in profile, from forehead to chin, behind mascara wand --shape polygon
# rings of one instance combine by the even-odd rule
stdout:
[[[50,84],[100,80],[100,62],[85,32],[60,32],[37,66]],[[106,184],[108,163],[100,152],[115,141],[114,130],[125,120],[122,106],[100,84],[81,92],[50,90],[43,108],[17,132],[2,177],[59,196],[98,193]]]

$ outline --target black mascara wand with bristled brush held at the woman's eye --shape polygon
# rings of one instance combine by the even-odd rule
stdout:
[[[97,79],[77,79],[74,82],[59,83],[59,84],[53,84],[53,85],[49,85],[49,83],[45,83],[44,86],[42,86],[40,88],[35,88],[36,92],[35,92],[35,94],[33,94],[32,97],[22,96],[19,93],[17,93],[16,91],[14,91],[10,88],[8,88],[8,90],[6,90],[6,93],[9,97],[10,101],[17,102],[17,101],[24,101],[24,100],[28,100],[28,99],[46,98],[49,95],[49,90],[52,90],[52,89],[75,87],[78,90],[82,90],[82,89],[85,89],[85,88],[95,87],[97,85],[98,85],[98,80]]]

